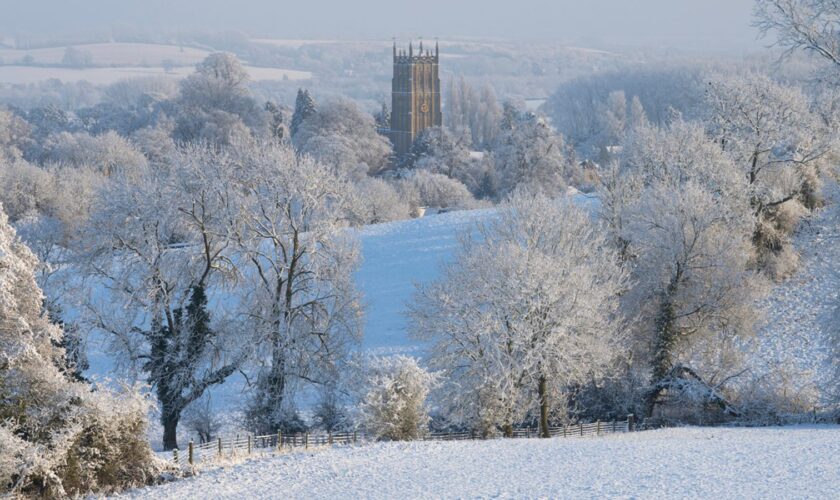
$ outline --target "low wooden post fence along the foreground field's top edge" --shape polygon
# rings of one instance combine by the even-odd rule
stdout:
[[[621,432],[632,432],[636,430],[633,415],[628,415],[627,420],[611,422],[591,422],[574,425],[563,425],[549,427],[551,437],[583,437],[600,436]],[[539,437],[538,428],[516,428],[513,430],[514,438],[536,438]],[[484,438],[469,431],[451,432],[429,432],[419,440],[421,441],[467,441]],[[298,434],[267,434],[256,436],[243,434],[227,438],[217,438],[215,441],[195,444],[190,441],[186,450],[173,450],[175,463],[186,463],[195,465],[199,462],[210,462],[224,458],[245,457],[256,453],[271,453],[290,450],[293,448],[308,449],[318,446],[335,445],[356,445],[374,441],[361,432],[316,432]],[[185,454],[186,456],[183,456]]]

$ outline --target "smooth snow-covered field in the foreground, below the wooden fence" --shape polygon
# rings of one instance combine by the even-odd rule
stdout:
[[[837,498],[840,427],[378,443],[254,460],[129,498]]]

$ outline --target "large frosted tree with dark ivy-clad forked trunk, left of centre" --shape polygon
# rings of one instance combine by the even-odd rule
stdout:
[[[214,308],[211,321],[208,308],[211,287],[233,272],[225,254],[229,165],[197,147],[171,162],[115,179],[80,242],[87,321],[154,387],[167,450],[178,446],[183,410],[242,361],[227,343],[224,309]]]

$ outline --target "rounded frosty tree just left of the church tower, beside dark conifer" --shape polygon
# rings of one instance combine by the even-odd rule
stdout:
[[[352,179],[381,172],[392,153],[391,143],[376,131],[373,116],[345,98],[321,106],[301,123],[292,142],[299,153]]]

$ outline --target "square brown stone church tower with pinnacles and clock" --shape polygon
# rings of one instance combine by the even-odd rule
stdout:
[[[408,52],[397,50],[394,42],[394,78],[391,80],[391,142],[397,158],[408,153],[423,129],[443,124],[440,110],[438,44],[435,50],[418,52],[408,44]]]

